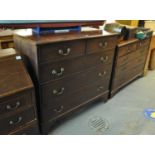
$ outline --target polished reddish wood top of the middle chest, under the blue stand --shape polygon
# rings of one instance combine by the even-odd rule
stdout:
[[[103,30],[95,28],[83,28],[81,32],[72,32],[72,33],[58,33],[58,34],[48,34],[48,35],[34,35],[34,34],[22,34],[21,32],[15,33],[15,37],[22,37],[32,42],[32,44],[47,44],[55,42],[64,42],[78,39],[88,39],[88,38],[97,38],[103,36],[115,36],[116,33],[108,33]]]

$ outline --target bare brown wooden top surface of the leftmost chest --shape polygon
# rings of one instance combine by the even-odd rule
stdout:
[[[0,99],[31,88],[21,57],[14,49],[0,51]]]

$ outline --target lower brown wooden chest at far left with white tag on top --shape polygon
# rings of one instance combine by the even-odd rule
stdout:
[[[34,87],[14,49],[0,51],[0,134],[39,134]]]

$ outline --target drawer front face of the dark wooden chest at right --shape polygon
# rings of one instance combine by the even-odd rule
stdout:
[[[117,45],[113,65],[111,96],[144,72],[150,38],[130,40]]]

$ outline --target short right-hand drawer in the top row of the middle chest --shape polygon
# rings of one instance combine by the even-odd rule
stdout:
[[[110,49],[115,50],[116,43],[117,43],[116,36],[89,39],[87,41],[86,52],[95,53],[95,52],[101,52],[101,51],[110,50]]]

